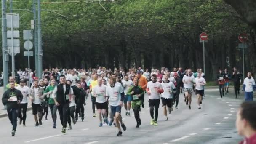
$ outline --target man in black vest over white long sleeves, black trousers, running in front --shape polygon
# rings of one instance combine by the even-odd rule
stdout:
[[[72,94],[73,89],[69,85],[66,85],[66,78],[64,75],[61,75],[60,84],[53,90],[53,99],[58,108],[61,125],[63,126],[62,133],[66,133],[69,102],[71,101]]]

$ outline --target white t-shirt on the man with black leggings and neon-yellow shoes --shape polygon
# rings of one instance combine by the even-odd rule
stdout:
[[[147,83],[147,89],[149,88],[149,99],[160,99],[160,93],[157,91],[162,89],[162,85],[159,82],[153,83],[152,81]]]

